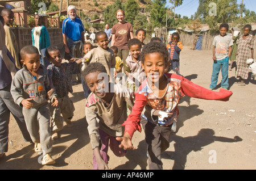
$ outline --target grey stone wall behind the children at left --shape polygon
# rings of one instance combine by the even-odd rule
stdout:
[[[16,40],[18,41],[19,50],[26,45],[32,45],[32,28],[13,27],[11,30],[14,32]],[[49,32],[51,45],[63,48],[62,29],[47,28],[47,30]]]

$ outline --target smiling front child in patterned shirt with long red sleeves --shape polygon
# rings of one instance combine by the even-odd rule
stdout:
[[[125,133],[118,137],[120,148],[135,149],[131,143],[133,133],[141,132],[141,124],[147,142],[149,169],[163,169],[161,154],[170,146],[171,126],[179,115],[178,104],[184,96],[200,99],[227,101],[231,91],[211,91],[195,85],[188,79],[166,73],[168,49],[162,43],[151,42],[141,54],[142,68],[146,79],[135,93],[131,114],[125,121]],[[141,124],[140,124],[141,123]],[[146,154],[146,153],[145,153]]]

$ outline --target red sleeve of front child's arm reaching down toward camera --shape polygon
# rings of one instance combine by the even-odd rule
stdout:
[[[125,133],[129,133],[130,137],[133,137],[135,131],[141,132],[141,113],[144,106],[147,104],[147,98],[142,94],[135,93],[135,102],[131,114],[128,116],[125,123]]]

